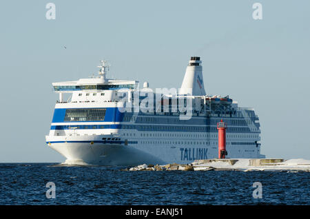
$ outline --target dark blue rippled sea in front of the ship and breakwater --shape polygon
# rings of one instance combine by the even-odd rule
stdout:
[[[310,173],[0,163],[0,205],[309,205]],[[47,183],[55,198],[47,198]],[[254,182],[262,197],[254,198]]]

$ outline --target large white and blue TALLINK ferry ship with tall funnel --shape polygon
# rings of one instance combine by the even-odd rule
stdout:
[[[52,83],[59,100],[45,140],[65,163],[163,165],[217,158],[221,120],[227,125],[227,158],[265,158],[254,109],[238,107],[229,96],[207,95],[200,57],[191,57],[180,89],[170,92],[108,79],[106,61],[98,67],[99,76]]]

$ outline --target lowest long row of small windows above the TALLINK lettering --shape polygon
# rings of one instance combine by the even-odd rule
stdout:
[[[123,136],[136,136],[134,133],[124,133]],[[217,138],[218,134],[155,134],[155,133],[141,133],[141,137],[194,137],[194,138]],[[227,138],[258,138],[257,134],[229,134]]]

